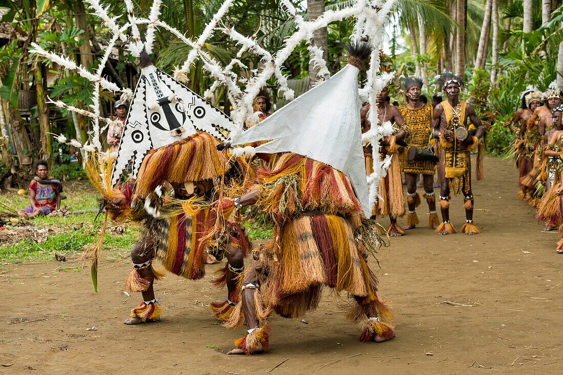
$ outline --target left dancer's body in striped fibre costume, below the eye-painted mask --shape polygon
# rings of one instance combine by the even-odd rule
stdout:
[[[244,231],[238,224],[217,217],[209,207],[217,198],[213,180],[228,174],[234,164],[225,152],[216,150],[218,143],[209,133],[197,132],[151,150],[134,187],[122,191],[132,208],[117,212],[117,217],[114,213],[114,218],[144,225],[142,239],[132,251],[133,270],[126,282],[129,292],[144,294],[144,301],[131,311],[131,318],[142,322],[159,319],[159,301],[151,297],[153,282],[162,275],[153,269],[154,259],[173,274],[197,280],[205,274],[208,253],[218,260],[227,256],[227,261],[242,253],[237,265],[227,262],[219,279],[225,282],[229,271],[235,277],[233,273],[243,270],[242,260],[249,247]],[[209,236],[213,232],[217,233],[215,238]],[[216,307],[225,313],[232,310],[237,299],[235,289]]]

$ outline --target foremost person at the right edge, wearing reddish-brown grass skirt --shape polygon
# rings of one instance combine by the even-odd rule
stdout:
[[[563,114],[563,106],[559,105],[552,111],[551,121],[557,129],[553,132],[549,143],[544,151],[548,158],[549,180],[552,188],[546,193],[542,203],[538,207],[538,220],[545,220],[552,226],[560,225],[559,232],[561,239],[557,243],[557,252],[563,253],[563,214],[561,213],[561,205],[563,204],[563,127],[561,124],[561,115]]]

